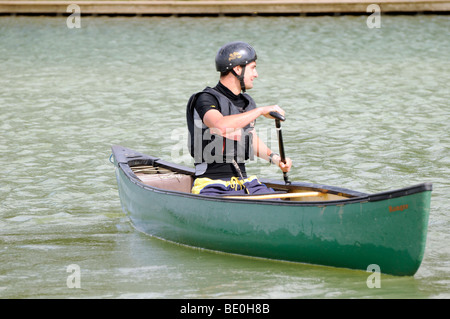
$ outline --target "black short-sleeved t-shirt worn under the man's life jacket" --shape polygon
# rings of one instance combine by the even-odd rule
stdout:
[[[230,101],[238,107],[238,109],[243,113],[246,111],[246,107],[248,106],[248,100],[242,96],[242,94],[235,95],[231,92],[226,86],[222,83],[218,83],[214,88],[214,90],[225,95]],[[209,110],[220,110],[219,101],[208,93],[200,94],[197,98],[197,101],[194,105],[195,110],[203,121],[203,117],[206,112]],[[247,177],[247,173],[245,170],[245,164],[239,163],[239,168],[244,177]],[[208,177],[211,179],[224,179],[228,180],[231,177],[236,176],[240,177],[233,164],[231,163],[210,163],[207,166],[207,169],[204,173],[198,175],[197,177]]]

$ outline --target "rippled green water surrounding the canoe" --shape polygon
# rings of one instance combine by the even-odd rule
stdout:
[[[0,298],[450,297],[450,18],[0,17]],[[378,192],[433,182],[414,277],[256,260],[138,233],[110,145],[189,165],[185,104],[217,49],[258,52],[257,104],[279,104],[291,180]],[[273,121],[258,132],[276,149]],[[262,161],[251,173],[281,179]],[[68,266],[80,288],[68,288]]]

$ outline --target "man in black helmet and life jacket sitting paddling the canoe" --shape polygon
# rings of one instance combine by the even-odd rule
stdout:
[[[245,161],[256,154],[288,172],[292,162],[285,163],[261,141],[254,129],[260,116],[272,118],[270,112],[284,115],[278,105],[256,107],[245,93],[258,77],[256,52],[245,42],[222,46],[216,55],[219,83],[193,94],[186,111],[189,150],[194,158],[195,194],[262,194],[273,192],[256,176],[247,177]],[[242,92],[242,93],[241,93]]]

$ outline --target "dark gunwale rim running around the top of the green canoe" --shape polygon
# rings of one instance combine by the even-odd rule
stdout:
[[[159,166],[168,168],[172,171],[175,171],[177,173],[186,174],[194,176],[194,169],[187,168],[185,166],[181,166],[178,164],[174,164],[171,162],[163,161],[157,157],[141,154],[138,152],[135,152],[133,150],[124,148],[122,146],[112,146],[112,151],[114,155],[115,165],[120,168],[123,173],[127,176],[127,178],[137,186],[144,188],[146,190],[160,193],[160,194],[167,194],[167,195],[175,195],[175,196],[182,196],[182,197],[188,197],[188,198],[195,198],[195,199],[202,199],[202,200],[211,200],[211,201],[218,201],[218,202],[239,202],[239,203],[248,203],[248,204],[265,204],[265,205],[277,205],[277,206],[329,206],[329,205],[346,205],[351,203],[358,203],[358,202],[376,202],[391,198],[397,198],[407,195],[412,195],[424,191],[431,191],[432,190],[432,183],[426,182],[421,183],[401,189],[391,190],[391,191],[385,191],[375,194],[366,194],[361,193],[345,188],[339,188],[335,186],[328,186],[328,185],[322,185],[322,184],[314,184],[314,183],[308,183],[308,182],[292,182],[291,185],[287,186],[281,181],[274,181],[274,180],[268,180],[268,179],[261,179],[262,183],[265,184],[271,184],[279,186],[280,188],[291,188],[291,189],[304,189],[304,190],[315,190],[315,191],[321,191],[324,193],[329,194],[347,194],[352,197],[349,197],[347,199],[341,199],[341,200],[327,200],[327,201],[314,201],[314,202],[302,202],[302,201],[279,201],[279,200],[257,200],[257,199],[246,199],[245,195],[242,196],[242,199],[237,198],[224,198],[219,196],[210,196],[210,195],[201,195],[201,194],[192,194],[192,193],[185,193],[185,192],[179,192],[179,191],[172,191],[172,190],[165,190],[157,187],[153,187],[147,184],[144,184],[139,177],[137,177],[131,167],[138,166],[138,165],[152,165],[152,166]]]

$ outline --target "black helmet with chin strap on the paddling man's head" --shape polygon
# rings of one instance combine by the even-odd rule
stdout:
[[[216,70],[223,73],[235,66],[247,65],[256,60],[256,51],[248,43],[236,41],[225,44],[216,55]]]

